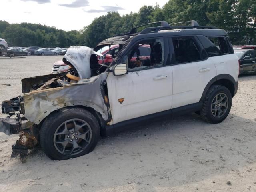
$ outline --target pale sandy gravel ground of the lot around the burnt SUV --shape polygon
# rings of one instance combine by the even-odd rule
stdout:
[[[11,84],[0,85],[0,101],[21,94],[22,78],[49,74],[59,59],[0,58],[0,83]],[[38,150],[25,164],[10,158],[17,138],[0,133],[1,192],[255,192],[256,76],[239,78],[220,124],[180,116],[102,138],[86,156],[52,161]]]

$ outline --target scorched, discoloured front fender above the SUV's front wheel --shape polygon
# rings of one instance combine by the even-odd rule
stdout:
[[[110,119],[110,108],[104,102],[102,84],[107,73],[102,73],[94,82],[89,84],[76,83],[60,88],[33,91],[24,94],[24,116],[40,124],[50,113],[71,106],[91,107],[102,115],[104,120]]]

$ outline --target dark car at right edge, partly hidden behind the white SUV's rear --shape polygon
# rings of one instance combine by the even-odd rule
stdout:
[[[256,73],[256,50],[234,50],[240,61],[240,74]]]

